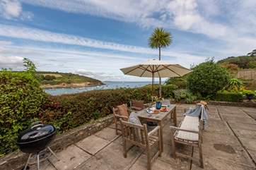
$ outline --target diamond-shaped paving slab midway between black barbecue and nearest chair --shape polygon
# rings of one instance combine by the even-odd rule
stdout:
[[[102,150],[103,147],[107,146],[108,144],[110,144],[110,141],[95,135],[88,136],[87,138],[76,143],[78,147],[93,155]]]

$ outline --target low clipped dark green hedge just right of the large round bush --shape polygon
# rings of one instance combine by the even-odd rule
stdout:
[[[216,93],[215,100],[222,102],[243,102],[243,94],[224,90]]]

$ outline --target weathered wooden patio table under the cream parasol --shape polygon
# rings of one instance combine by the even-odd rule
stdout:
[[[160,126],[161,130],[161,150],[163,152],[163,126],[165,126],[165,119],[168,118],[170,115],[170,120],[174,122],[174,126],[177,127],[177,115],[176,115],[176,104],[165,104],[168,105],[168,111],[160,111],[158,114],[149,114],[146,110],[149,109],[149,107],[137,111],[136,115],[139,117],[139,119],[144,121],[151,121],[158,123],[158,126]]]

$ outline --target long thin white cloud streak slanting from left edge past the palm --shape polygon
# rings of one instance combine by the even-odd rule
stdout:
[[[93,47],[100,49],[110,49],[116,51],[132,52],[139,54],[154,54],[157,55],[158,51],[138,46],[131,46],[126,44],[117,44],[114,42],[105,42],[100,40],[93,40],[87,37],[79,37],[76,35],[66,35],[45,30],[38,30],[34,28],[21,28],[12,25],[0,24],[0,35],[14,38],[22,38],[26,40],[35,40],[40,42],[55,42],[61,44],[72,44],[82,47]],[[165,56],[178,57],[180,59],[194,59],[202,61],[202,56],[194,56],[190,54],[182,54],[175,51],[163,51]]]

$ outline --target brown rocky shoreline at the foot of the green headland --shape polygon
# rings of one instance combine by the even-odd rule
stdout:
[[[56,88],[92,87],[92,86],[97,86],[97,85],[104,85],[104,83],[90,83],[90,82],[70,83],[70,84],[61,83],[58,85],[45,84],[45,85],[40,85],[40,87],[43,89],[56,89]]]

